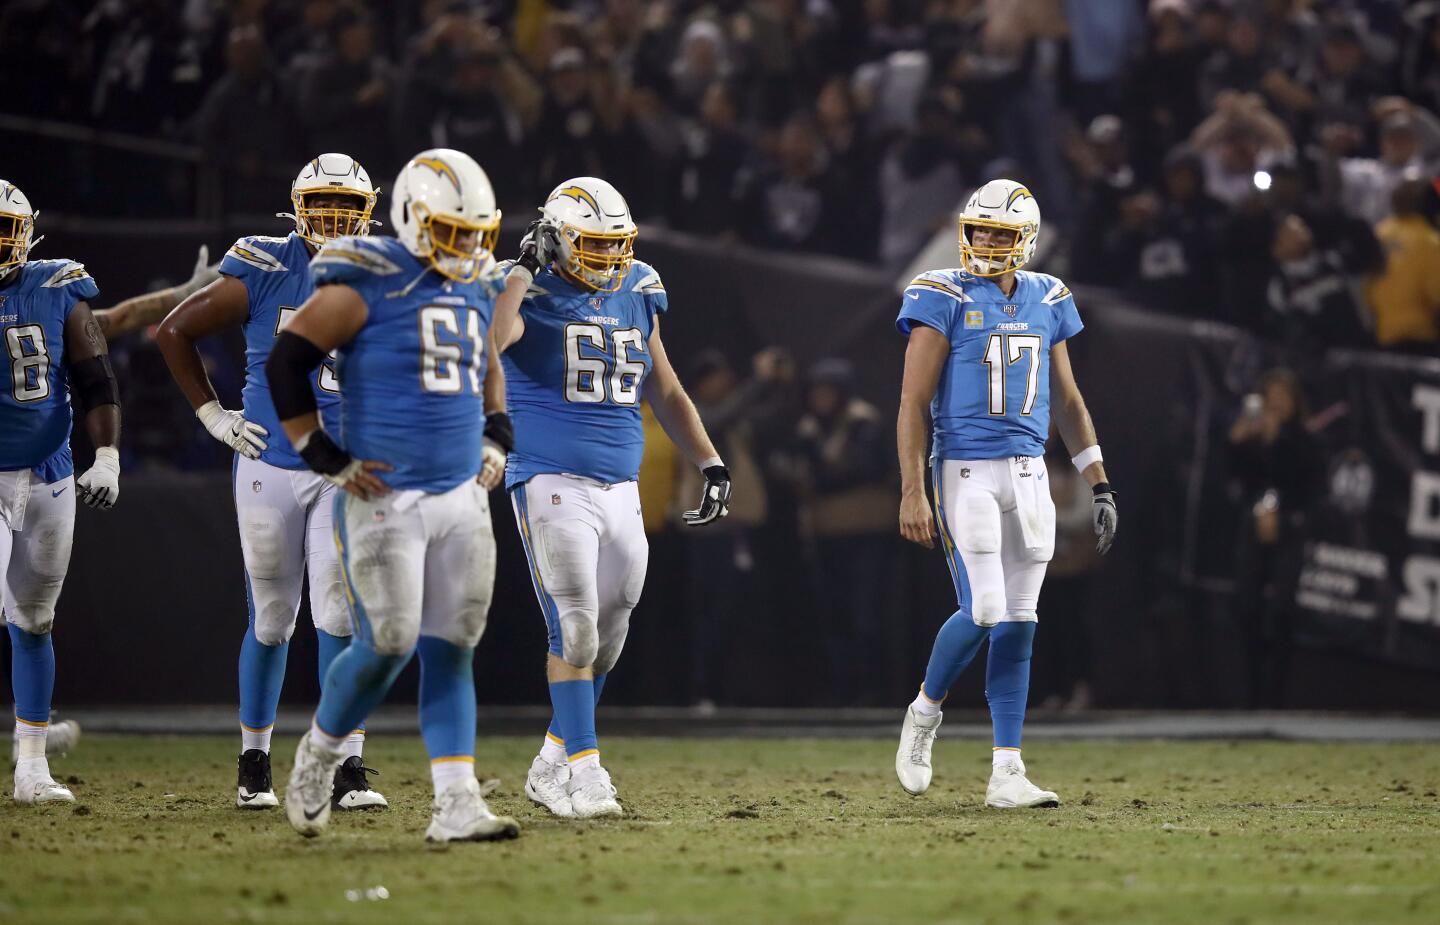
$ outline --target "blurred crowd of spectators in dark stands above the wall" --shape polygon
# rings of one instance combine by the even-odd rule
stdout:
[[[1297,350],[1437,336],[1434,1],[7,0],[0,69],[0,110],[197,141],[238,210],[449,146],[521,212],[599,174],[899,269],[1005,174],[1074,281]]]

